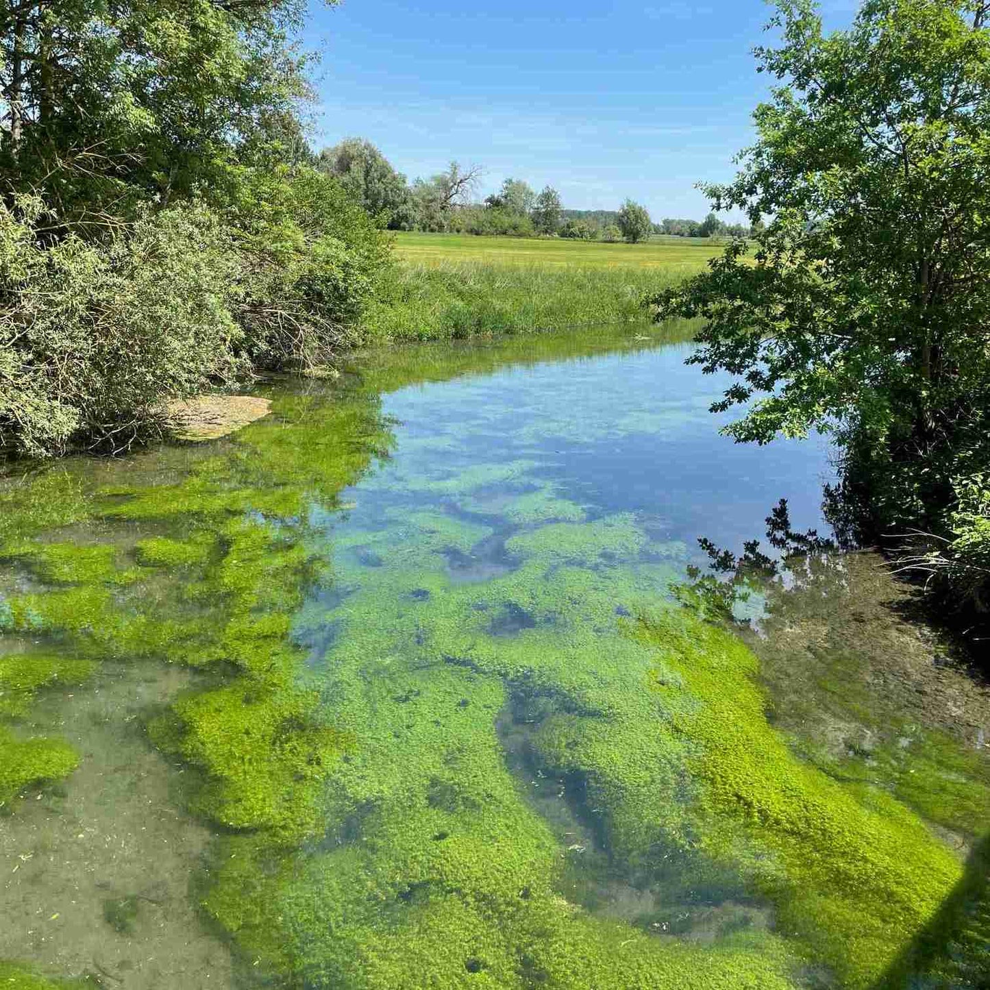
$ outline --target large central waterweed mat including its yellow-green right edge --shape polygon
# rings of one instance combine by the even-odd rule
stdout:
[[[453,987],[464,972],[492,986],[592,987],[605,972],[674,986],[686,970],[698,986],[790,986],[813,958],[865,986],[955,882],[954,858],[903,806],[790,754],[743,644],[656,612],[673,572],[638,562],[649,541],[634,518],[523,531],[506,540],[515,569],[466,585],[443,553],[459,526],[362,518],[369,528],[354,520],[338,543],[348,592],[325,610],[339,629],[311,678],[355,740],[330,774],[326,834],[274,861],[232,841],[206,899],[269,965],[368,988],[412,986],[411,973]],[[350,545],[373,545],[375,564]],[[645,602],[645,626],[623,618]],[[306,615],[297,636],[315,646],[320,612]],[[700,885],[706,901],[772,904],[790,942],[745,924],[732,934],[732,909],[714,947],[672,940],[561,896],[581,853],[506,766],[496,724],[513,705],[531,726],[531,786],[570,780],[611,869],[666,892],[647,931],[700,919]]]

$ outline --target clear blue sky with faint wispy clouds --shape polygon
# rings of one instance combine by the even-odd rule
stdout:
[[[854,0],[826,0],[827,24]],[[751,49],[763,0],[311,0],[316,144],[362,137],[410,178],[455,158],[552,185],[572,209],[627,196],[655,218],[702,217],[766,94]]]

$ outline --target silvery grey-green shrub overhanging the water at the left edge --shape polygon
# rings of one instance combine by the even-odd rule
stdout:
[[[245,368],[227,306],[236,256],[202,207],[145,214],[104,244],[46,245],[44,204],[0,204],[0,448],[130,446],[162,401]]]

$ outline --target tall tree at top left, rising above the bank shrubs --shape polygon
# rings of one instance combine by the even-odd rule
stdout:
[[[302,14],[300,0],[4,4],[2,192],[42,192],[85,224],[216,186],[259,129],[293,118]]]

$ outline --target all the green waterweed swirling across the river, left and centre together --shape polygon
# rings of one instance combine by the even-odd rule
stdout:
[[[456,422],[368,473],[373,387],[275,414],[8,495],[0,799],[78,759],[24,735],[39,691],[163,660],[199,677],[148,729],[218,828],[203,908],[264,979],[868,987],[938,912],[919,815],[800,758],[753,654],[666,602],[683,545]]]

